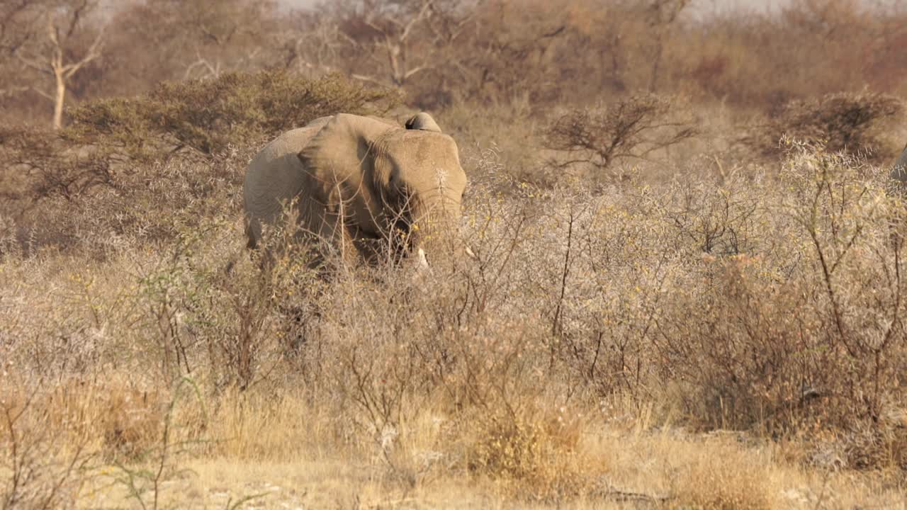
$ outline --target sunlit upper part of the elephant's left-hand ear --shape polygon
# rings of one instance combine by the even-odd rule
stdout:
[[[370,165],[375,140],[395,128],[392,125],[348,113],[338,113],[312,137],[297,156],[307,172],[317,179],[333,176],[346,180]],[[360,173],[361,175],[361,173]]]

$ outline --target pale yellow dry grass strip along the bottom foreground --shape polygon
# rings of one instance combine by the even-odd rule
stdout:
[[[180,461],[184,470],[161,485],[161,507],[222,507],[252,497],[249,507],[256,508],[853,508],[892,507],[903,498],[884,477],[792,465],[780,452],[790,446],[738,434],[653,429],[645,414],[581,427],[580,434],[545,433],[554,445],[571,443],[573,453],[559,455],[555,446],[549,451],[553,455],[532,458],[535,476],[527,479],[522,473],[514,479],[476,474],[451,461],[468,455],[459,449],[464,443],[481,448],[500,436],[482,436],[479,444],[472,443],[476,437],[463,437],[441,451],[422,449],[444,427],[432,414],[409,431],[409,444],[395,446],[391,460],[376,444],[359,453],[339,445],[327,432],[331,417],[318,416],[319,410],[306,402],[267,400],[222,397],[222,410],[210,417],[210,434],[226,440],[208,453],[200,446],[192,458]],[[255,412],[241,410],[248,408]],[[141,405],[132,409],[141,410]],[[539,485],[541,473],[560,478],[561,490],[572,486],[582,492],[552,493],[550,485]],[[117,476],[107,465],[86,473],[77,505],[135,506]]]

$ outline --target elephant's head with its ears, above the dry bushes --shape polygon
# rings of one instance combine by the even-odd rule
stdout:
[[[437,128],[421,115],[418,125]],[[388,241],[376,244],[429,263],[434,253],[457,248],[466,174],[456,142],[440,129],[339,114],[298,156],[327,184],[328,209],[343,204],[344,228],[354,238]]]

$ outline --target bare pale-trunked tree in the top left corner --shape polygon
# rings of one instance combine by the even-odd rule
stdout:
[[[40,32],[15,49],[25,67],[53,79],[50,92],[37,83],[29,88],[54,103],[54,129],[63,127],[66,91],[73,75],[101,56],[103,26],[96,28],[92,17],[99,0],[60,0],[40,5],[44,35]],[[91,42],[80,51],[86,38]]]

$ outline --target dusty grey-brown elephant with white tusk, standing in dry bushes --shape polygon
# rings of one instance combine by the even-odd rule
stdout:
[[[414,256],[427,266],[456,239],[467,179],[456,142],[431,115],[405,126],[337,113],[269,142],[243,185],[249,248],[287,211],[297,238],[327,241],[346,260]]]

